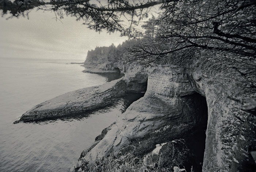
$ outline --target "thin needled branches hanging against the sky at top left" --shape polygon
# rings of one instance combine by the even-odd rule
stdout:
[[[27,15],[29,9],[50,10],[59,18],[64,15],[75,16],[95,31],[106,29],[109,32],[120,31],[122,35],[137,36],[134,26],[146,18],[150,8],[168,0],[1,0],[3,14],[12,16]]]

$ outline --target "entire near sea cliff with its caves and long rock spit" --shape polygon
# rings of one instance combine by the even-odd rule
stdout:
[[[91,160],[111,154],[118,159],[131,153],[147,162],[156,148],[155,161],[167,169],[253,171],[256,116],[229,98],[245,95],[241,82],[229,77],[231,69],[207,70],[199,61],[147,68],[126,64],[122,70],[123,78],[46,101],[20,121],[93,110],[127,92],[145,92],[82,152],[74,171],[86,170]],[[255,91],[247,89],[246,95],[255,98]]]

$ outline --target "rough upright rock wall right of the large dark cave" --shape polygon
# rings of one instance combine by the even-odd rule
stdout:
[[[242,87],[228,77],[228,72],[218,74],[202,70],[200,66],[193,67],[189,78],[193,89],[206,97],[208,106],[203,171],[230,171],[238,135],[248,114],[227,98],[227,94],[242,96]]]

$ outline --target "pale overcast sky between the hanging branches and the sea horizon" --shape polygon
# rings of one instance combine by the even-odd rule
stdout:
[[[0,17],[0,57],[65,58],[85,60],[96,46],[118,45],[128,39],[120,33],[96,33],[65,16],[57,21],[53,12],[31,11],[27,18]]]

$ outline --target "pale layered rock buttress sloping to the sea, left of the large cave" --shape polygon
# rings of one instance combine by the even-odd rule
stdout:
[[[80,160],[132,152],[143,157],[156,144],[186,137],[207,123],[205,98],[195,92],[184,69],[148,69],[147,91]]]

